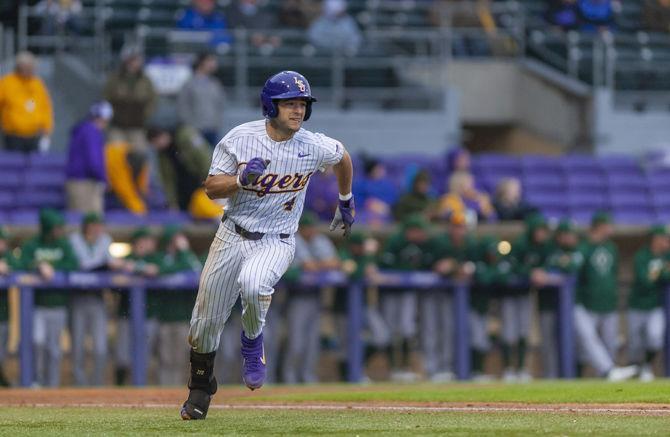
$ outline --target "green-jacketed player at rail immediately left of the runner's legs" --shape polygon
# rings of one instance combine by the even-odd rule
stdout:
[[[200,272],[202,264],[190,248],[188,239],[178,226],[167,226],[161,237],[161,275]],[[191,311],[197,290],[156,290],[158,302],[158,382],[161,385],[186,383],[184,369],[189,353],[175,344],[188,338]]]

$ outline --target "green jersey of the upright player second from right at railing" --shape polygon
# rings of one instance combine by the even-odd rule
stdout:
[[[580,251],[584,264],[577,277],[577,303],[596,313],[616,311],[619,251],[609,240],[584,242]]]

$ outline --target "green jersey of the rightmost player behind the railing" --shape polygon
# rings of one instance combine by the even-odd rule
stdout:
[[[635,279],[628,307],[636,310],[652,310],[663,304],[663,293],[670,283],[668,255],[654,255],[649,246],[635,254],[633,264]]]

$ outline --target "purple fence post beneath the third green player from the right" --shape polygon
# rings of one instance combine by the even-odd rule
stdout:
[[[574,291],[575,278],[568,276],[558,289],[558,351],[561,378],[574,378]]]

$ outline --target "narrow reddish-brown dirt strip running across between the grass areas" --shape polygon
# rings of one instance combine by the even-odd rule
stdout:
[[[335,390],[345,390],[335,389]],[[351,387],[347,390],[361,390]],[[272,394],[316,392],[312,387],[275,387]],[[91,408],[175,408],[186,396],[184,389],[12,389],[2,391],[0,406],[91,407]],[[528,412],[568,414],[615,414],[669,416],[670,404],[528,404],[510,402],[285,402],[256,401],[243,388],[225,388],[217,393],[213,409],[285,410],[379,410],[415,412]]]

